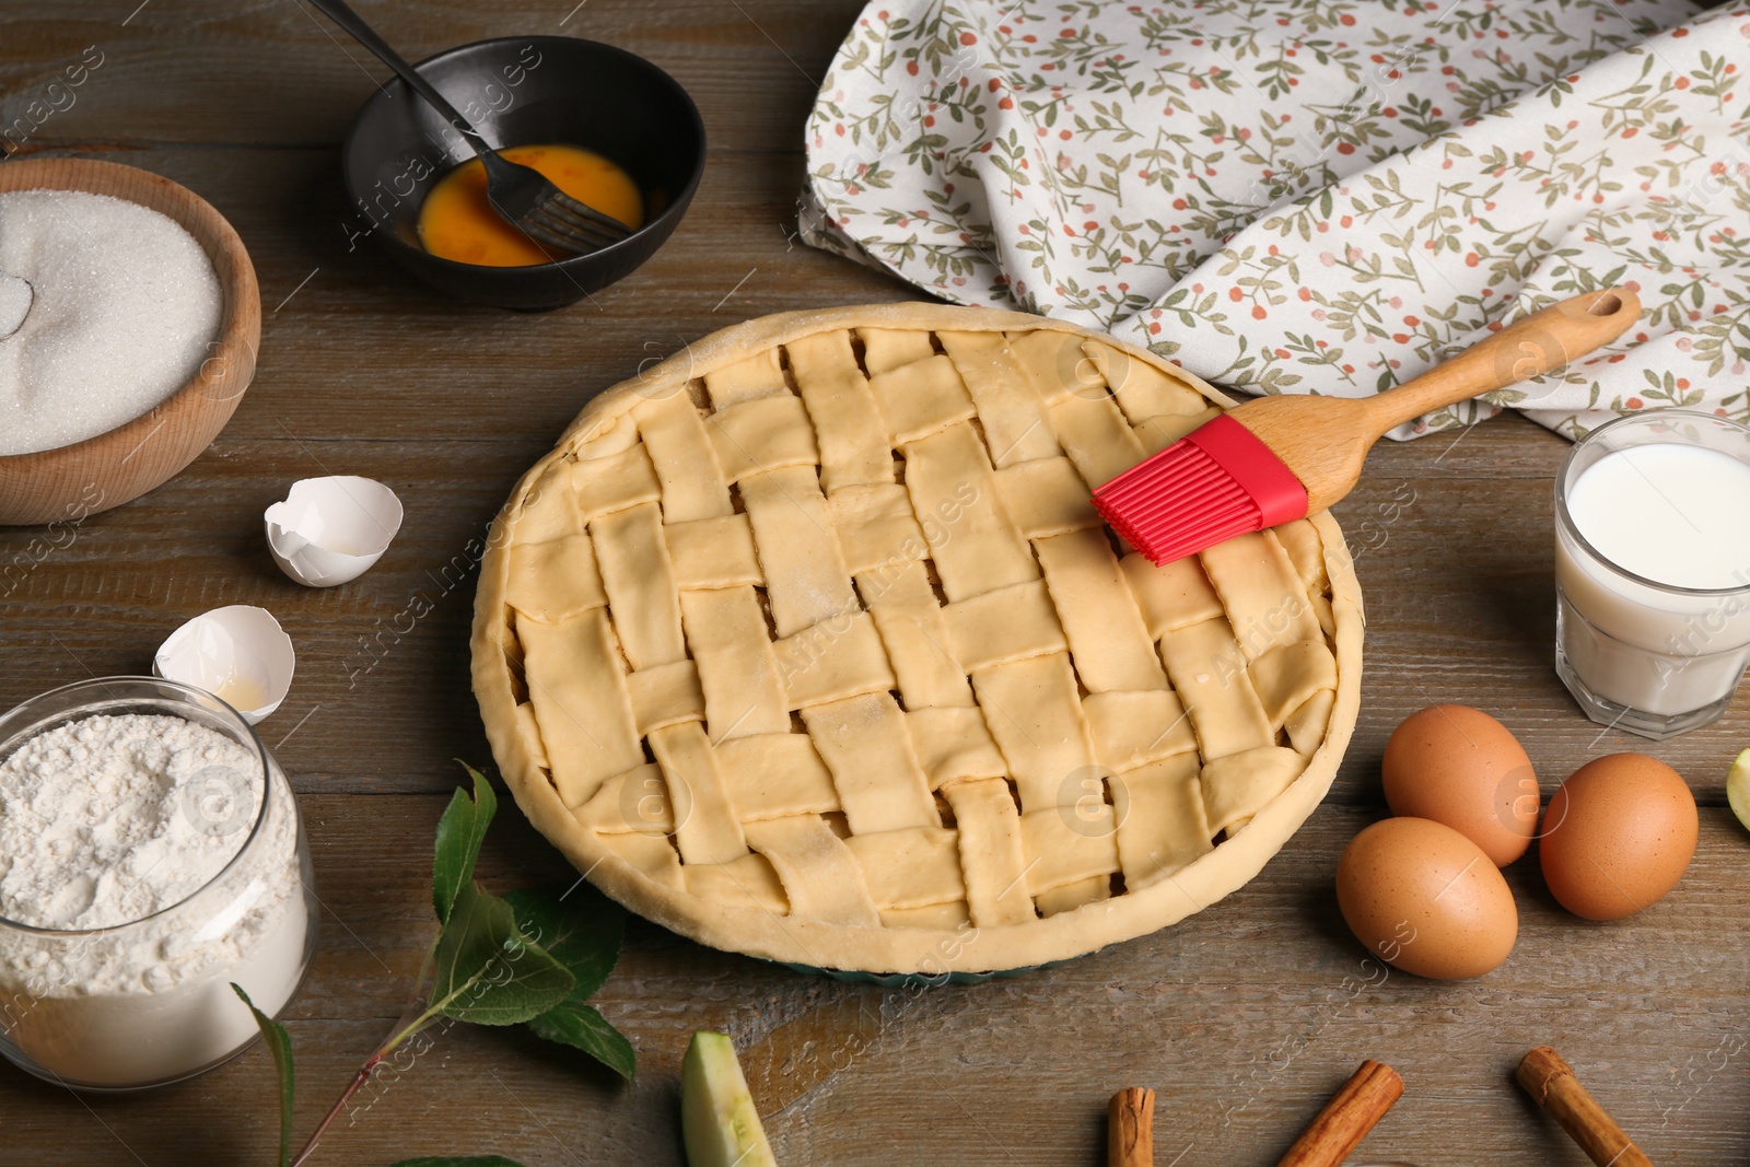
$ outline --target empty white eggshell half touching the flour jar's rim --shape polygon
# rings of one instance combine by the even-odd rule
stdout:
[[[292,688],[292,639],[264,607],[215,607],[182,625],[152,660],[152,672],[206,689],[256,724]]]

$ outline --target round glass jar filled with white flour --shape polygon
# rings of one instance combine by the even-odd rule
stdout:
[[[0,1053],[138,1090],[231,1059],[317,940],[285,773],[217,696],[82,681],[0,716]]]

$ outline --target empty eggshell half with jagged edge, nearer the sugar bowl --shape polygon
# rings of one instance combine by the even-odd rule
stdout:
[[[332,588],[362,576],[401,530],[401,499],[374,478],[336,474],[292,483],[262,514],[268,549],[287,576]]]

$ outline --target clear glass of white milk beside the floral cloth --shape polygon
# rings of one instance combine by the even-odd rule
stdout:
[[[1556,672],[1600,724],[1717,721],[1750,660],[1750,427],[1657,409],[1556,476]]]

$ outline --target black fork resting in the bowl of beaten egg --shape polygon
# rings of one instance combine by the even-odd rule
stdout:
[[[486,201],[513,227],[548,247],[586,254],[600,250],[632,234],[632,227],[604,215],[588,203],[579,203],[528,166],[518,166],[486,145],[474,126],[462,117],[436,86],[420,77],[399,52],[354,12],[345,0],[310,0],[341,26],[354,40],[374,52],[383,65],[396,70],[401,80],[425,98],[457,133],[460,133],[486,168]]]

